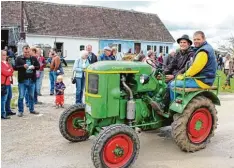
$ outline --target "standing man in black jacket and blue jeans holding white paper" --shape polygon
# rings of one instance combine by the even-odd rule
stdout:
[[[18,71],[18,116],[22,117],[24,112],[25,91],[29,94],[29,111],[31,114],[38,114],[34,110],[34,91],[36,83],[36,70],[40,69],[40,64],[36,57],[30,55],[30,47],[23,47],[23,55],[17,57],[14,69]]]

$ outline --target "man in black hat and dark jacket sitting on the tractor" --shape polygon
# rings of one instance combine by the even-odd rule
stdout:
[[[167,111],[170,104],[170,82],[175,79],[178,74],[184,73],[186,64],[194,56],[194,51],[191,49],[192,41],[188,35],[183,35],[177,39],[177,43],[180,45],[180,49],[176,52],[170,63],[164,65],[164,74],[166,75],[166,82],[168,83],[168,89],[164,95],[165,111]]]

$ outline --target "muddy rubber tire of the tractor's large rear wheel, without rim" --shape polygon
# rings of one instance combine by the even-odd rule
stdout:
[[[188,123],[191,121],[191,116],[198,109],[206,109],[211,114],[212,125],[208,136],[200,143],[193,143],[188,134]],[[186,152],[195,152],[206,147],[210,142],[211,137],[214,136],[214,130],[217,128],[217,111],[215,105],[204,96],[193,98],[187,105],[182,114],[175,114],[173,116],[174,122],[172,123],[172,137],[181,150]]]

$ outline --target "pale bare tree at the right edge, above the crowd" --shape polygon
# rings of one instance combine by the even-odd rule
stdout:
[[[234,36],[232,35],[231,37],[226,39],[223,44],[219,43],[218,49],[221,52],[225,52],[230,54],[231,56],[234,56]]]

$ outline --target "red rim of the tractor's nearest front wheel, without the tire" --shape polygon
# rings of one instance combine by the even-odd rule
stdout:
[[[104,163],[111,168],[124,166],[133,155],[133,142],[128,135],[118,134],[107,141],[102,157]]]

